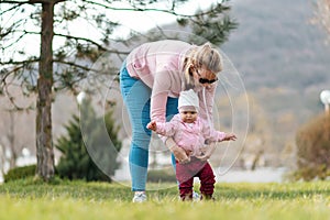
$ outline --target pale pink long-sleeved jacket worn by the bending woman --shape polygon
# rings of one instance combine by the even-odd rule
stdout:
[[[151,119],[165,122],[167,97],[177,98],[183,90],[183,63],[185,54],[193,48],[180,41],[165,40],[145,43],[134,48],[127,57],[127,68],[131,77],[141,79],[152,88]],[[213,97],[217,84],[206,87],[204,100],[202,86],[194,88],[199,98],[199,116],[212,121]],[[207,106],[206,106],[206,105]]]

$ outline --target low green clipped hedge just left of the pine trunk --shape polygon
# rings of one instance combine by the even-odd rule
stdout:
[[[4,183],[10,180],[16,180],[28,177],[33,177],[35,175],[36,165],[21,166],[10,169],[4,176]]]

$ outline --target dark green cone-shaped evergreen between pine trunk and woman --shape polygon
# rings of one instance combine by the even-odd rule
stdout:
[[[84,100],[80,108],[80,118],[73,116],[66,125],[67,135],[61,136],[55,145],[63,154],[56,172],[62,178],[111,182],[120,165],[117,156],[121,148],[112,110],[98,117],[90,100]],[[107,134],[102,132],[105,125]]]

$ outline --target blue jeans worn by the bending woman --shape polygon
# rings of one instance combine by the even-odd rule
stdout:
[[[120,90],[132,127],[132,142],[129,155],[132,190],[144,191],[148,165],[148,146],[151,141],[151,131],[146,129],[146,124],[151,121],[150,98],[152,89],[143,81],[132,78],[128,73],[124,62],[120,69]],[[177,102],[177,98],[167,98],[167,120],[178,113]],[[172,164],[175,166],[174,155],[172,155]]]

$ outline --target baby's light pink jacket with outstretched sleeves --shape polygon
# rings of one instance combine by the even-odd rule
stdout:
[[[179,114],[175,114],[169,122],[157,122],[156,133],[172,136],[175,143],[189,152],[190,156],[200,156],[205,141],[221,142],[226,133],[210,129],[211,127],[199,117],[194,123],[185,123]]]

